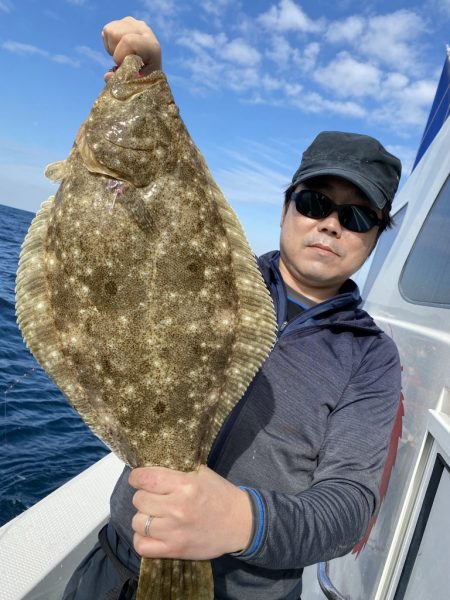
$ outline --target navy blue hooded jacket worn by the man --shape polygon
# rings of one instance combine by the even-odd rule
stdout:
[[[379,483],[400,400],[393,341],[358,308],[358,287],[286,324],[279,252],[259,260],[278,341],[223,425],[208,464],[245,486],[254,535],[239,555],[212,561],[217,600],[297,600],[303,567],[349,552],[379,504]],[[131,543],[128,472],[111,520]]]

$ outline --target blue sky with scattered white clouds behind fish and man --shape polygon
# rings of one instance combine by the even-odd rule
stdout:
[[[257,253],[326,129],[378,137],[408,174],[450,43],[450,0],[0,0],[0,204],[36,211],[112,66],[100,33],[146,20],[181,114]]]

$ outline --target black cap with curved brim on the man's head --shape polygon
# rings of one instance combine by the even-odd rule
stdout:
[[[368,135],[322,131],[305,150],[292,184],[311,177],[336,175],[348,179],[377,208],[390,209],[402,163],[378,140]]]

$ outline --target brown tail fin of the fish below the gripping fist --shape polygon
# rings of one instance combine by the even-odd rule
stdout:
[[[143,558],[136,600],[212,600],[209,561]]]

